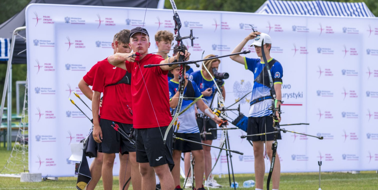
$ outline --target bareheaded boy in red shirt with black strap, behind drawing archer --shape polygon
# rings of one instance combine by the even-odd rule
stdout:
[[[116,43],[117,52],[130,52],[128,44],[129,31],[120,32],[121,40]],[[102,164],[102,181],[105,190],[111,190],[113,185],[113,164],[115,153],[129,153],[132,182],[134,189],[141,189],[141,175],[136,162],[135,147],[129,140],[113,129],[113,122],[126,133],[132,128],[132,102],[130,95],[131,74],[126,70],[113,67],[107,59],[99,61],[93,81],[93,138],[98,145],[98,151],[104,155]],[[101,92],[104,96],[101,107],[101,120],[98,119]],[[98,136],[100,134],[101,138]],[[127,157],[120,156],[127,160]],[[123,161],[123,160],[122,160]],[[121,162],[122,162],[121,161]],[[121,171],[124,173],[124,171]]]

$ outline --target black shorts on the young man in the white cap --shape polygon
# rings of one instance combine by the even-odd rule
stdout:
[[[265,125],[266,124],[266,125]],[[259,133],[274,132],[273,129],[273,118],[271,116],[262,116],[262,117],[248,117],[248,135],[254,135]],[[278,124],[279,127],[279,124]],[[266,135],[266,141],[274,140],[274,133]],[[281,132],[278,133],[277,139],[281,139]],[[249,141],[265,141],[265,135],[260,136],[248,136],[247,140]]]

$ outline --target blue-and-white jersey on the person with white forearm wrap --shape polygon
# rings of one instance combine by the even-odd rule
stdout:
[[[187,84],[189,85],[189,83]],[[178,90],[178,82],[170,80],[168,81],[169,86],[169,100],[172,99],[172,97],[177,93]],[[203,95],[201,94],[200,90],[197,87],[197,84],[192,82],[192,86],[194,89],[194,96],[195,97],[188,97],[193,99],[183,100],[183,103],[181,105],[181,111],[184,110],[189,104],[191,104],[194,101],[194,98],[202,98]],[[184,89],[184,95],[186,93],[187,86]],[[184,113],[182,113],[180,116],[178,116],[178,122],[180,122],[180,127],[178,128],[178,133],[200,133],[200,130],[197,126],[197,121],[195,120],[195,110],[194,110],[194,104],[187,109]],[[170,109],[172,111],[172,109]],[[174,129],[174,132],[176,132],[177,128]]]

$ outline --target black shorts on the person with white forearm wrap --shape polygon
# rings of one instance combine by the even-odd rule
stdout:
[[[188,139],[191,141],[196,141],[201,143],[200,133],[176,133],[176,136],[183,139]],[[180,150],[181,152],[191,152],[192,150],[202,150],[202,145],[197,143],[191,143],[187,141],[181,141],[179,139],[174,139],[173,149]]]

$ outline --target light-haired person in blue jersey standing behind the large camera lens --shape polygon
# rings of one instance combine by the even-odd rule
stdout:
[[[206,58],[211,58],[211,57],[217,57],[217,55],[210,54],[204,58],[206,59]],[[219,59],[204,61],[204,65],[210,71],[210,73],[208,73],[206,69],[204,68],[204,66],[202,65],[201,70],[192,72],[191,75],[189,76],[189,80],[194,81],[196,84],[198,84],[198,88],[200,89],[200,92],[202,93],[203,98],[205,98],[208,101],[208,103],[206,104],[210,108],[212,106],[210,104],[215,95],[215,90],[217,89],[217,87],[215,87],[215,85],[217,84],[214,84],[214,81],[212,81],[212,76],[214,76],[213,69],[218,70],[219,64],[220,64]],[[223,86],[224,81],[222,79],[217,79],[217,83],[218,83],[219,88],[222,90],[223,99],[225,99],[226,92],[225,92],[225,87]],[[216,101],[216,99],[214,101]],[[214,139],[217,139],[217,131],[212,130],[210,134],[208,129],[217,128],[217,124],[213,120],[211,120],[211,118],[206,117],[206,115],[204,115],[200,110],[198,110],[197,125],[201,132],[202,143],[211,145],[212,141]],[[210,148],[211,147],[209,146],[203,146],[204,163],[205,163],[204,173],[206,177],[209,176],[209,173],[212,167]],[[205,185],[209,187],[222,187],[222,185],[218,184],[217,181],[215,181],[212,176],[210,176],[207,179],[207,181],[205,182]]]

